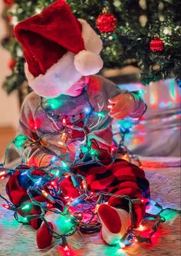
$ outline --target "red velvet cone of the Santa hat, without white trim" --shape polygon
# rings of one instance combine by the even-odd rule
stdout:
[[[19,22],[15,37],[20,42],[28,70],[37,77],[67,52],[84,50],[81,23],[64,0],[58,0],[38,15]]]

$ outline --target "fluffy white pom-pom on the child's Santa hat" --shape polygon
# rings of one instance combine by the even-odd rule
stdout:
[[[81,75],[94,75],[103,68],[100,55],[83,50],[74,56],[74,65]]]

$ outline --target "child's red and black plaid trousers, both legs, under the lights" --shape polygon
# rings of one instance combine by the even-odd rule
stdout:
[[[76,168],[75,173],[83,175],[87,179],[88,190],[98,192],[105,191],[114,194],[125,194],[130,198],[150,198],[150,186],[149,182],[145,178],[145,173],[142,169],[136,165],[124,160],[117,160],[112,165],[100,166],[100,165],[85,165],[81,168]],[[41,171],[35,171],[35,175],[42,175]],[[7,184],[7,194],[10,200],[16,206],[22,202],[28,201],[28,195],[26,189],[22,188],[18,183],[19,171],[15,172],[15,175],[9,178]],[[74,188],[71,179],[67,178],[60,183],[61,190],[63,191],[62,201],[64,196],[73,196],[76,198],[79,193]],[[44,197],[35,197],[37,201],[45,201]],[[128,211],[128,202],[120,198],[111,196],[108,200],[111,206],[117,208],[123,208]],[[134,224],[135,227],[140,224],[146,211],[145,203],[133,204]],[[38,209],[31,214],[38,214]],[[38,221],[30,223],[33,228],[39,227]]]

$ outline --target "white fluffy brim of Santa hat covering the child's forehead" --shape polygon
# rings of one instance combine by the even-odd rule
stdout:
[[[25,64],[25,75],[29,86],[43,97],[57,97],[64,94],[82,76],[74,66],[74,53],[72,52],[67,52],[44,75],[38,75],[36,78],[31,75],[28,65]]]

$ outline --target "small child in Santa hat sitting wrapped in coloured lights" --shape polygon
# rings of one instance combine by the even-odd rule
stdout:
[[[94,75],[103,66],[99,55],[102,42],[90,25],[77,20],[66,2],[58,0],[16,25],[15,36],[24,49],[25,72],[33,89],[21,109],[21,134],[38,141],[24,149],[24,162],[42,167],[55,156],[58,160],[54,165],[59,166],[64,159],[59,156],[68,152],[74,172],[86,177],[90,191],[127,194],[130,198],[149,196],[144,171],[112,157],[113,118],[139,118],[145,104],[137,92],[121,91],[111,81]],[[109,115],[102,115],[108,111]],[[95,115],[88,116],[89,112]],[[94,163],[84,165],[93,158],[90,148],[96,152]],[[77,155],[78,150],[81,154]],[[81,159],[83,165],[76,165]],[[126,200],[111,196],[108,204],[100,204],[97,214],[107,244],[115,244],[130,227]],[[137,227],[145,204],[133,204],[133,214]],[[47,221],[58,232],[57,218],[49,214]],[[38,248],[50,245],[53,240],[47,226],[34,227],[38,229]]]

